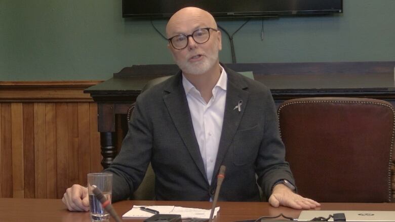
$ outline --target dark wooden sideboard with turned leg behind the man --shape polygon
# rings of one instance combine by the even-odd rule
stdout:
[[[270,88],[277,105],[302,97],[365,97],[395,104],[395,61],[225,65],[235,71],[252,71],[255,80]],[[127,113],[149,80],[177,71],[176,65],[134,65],[84,91],[98,104],[103,167],[116,156],[117,124],[120,124],[116,116]]]

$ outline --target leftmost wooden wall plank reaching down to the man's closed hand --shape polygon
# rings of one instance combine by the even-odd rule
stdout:
[[[56,180],[57,198],[62,198],[66,189],[71,186],[68,182],[68,125],[67,103],[56,103]],[[70,163],[71,164],[71,163]]]

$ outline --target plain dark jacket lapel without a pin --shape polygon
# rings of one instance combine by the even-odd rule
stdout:
[[[172,77],[172,81],[169,81],[169,84],[165,87],[163,100],[193,161],[198,166],[203,177],[207,178],[199,144],[194,134],[188,101],[186,100],[184,87],[182,86],[181,76],[181,72],[179,72]]]

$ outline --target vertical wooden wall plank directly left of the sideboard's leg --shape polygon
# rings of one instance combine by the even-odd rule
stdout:
[[[101,166],[101,148],[100,133],[97,131],[97,104],[89,103],[89,127],[90,127],[90,153],[91,153],[91,170],[90,172],[100,172],[103,170]]]

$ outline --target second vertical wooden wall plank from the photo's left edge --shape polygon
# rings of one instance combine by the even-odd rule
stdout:
[[[12,126],[12,196],[23,198],[23,107],[22,103],[11,104]]]

